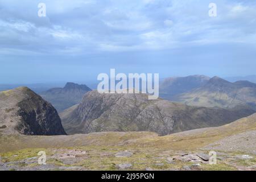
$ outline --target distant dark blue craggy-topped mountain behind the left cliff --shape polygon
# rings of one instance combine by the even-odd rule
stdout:
[[[51,102],[57,111],[63,111],[68,107],[79,104],[84,94],[90,90],[92,89],[86,85],[68,82],[64,88],[52,88],[40,93],[40,96]]]

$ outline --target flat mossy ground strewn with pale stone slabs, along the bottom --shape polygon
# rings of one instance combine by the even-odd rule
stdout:
[[[46,164],[39,165],[39,150],[2,154],[0,170],[256,170],[255,155],[217,152],[210,165],[207,151],[144,151],[122,147],[47,149]]]

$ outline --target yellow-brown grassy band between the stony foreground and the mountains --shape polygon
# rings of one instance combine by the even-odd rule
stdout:
[[[2,147],[0,152],[31,147],[120,146],[123,144],[125,146],[159,146],[172,150],[196,150],[224,137],[256,130],[255,118],[256,114],[221,127],[185,131],[165,137],[158,137],[157,134],[149,132],[109,132],[51,137],[1,136],[0,144]]]

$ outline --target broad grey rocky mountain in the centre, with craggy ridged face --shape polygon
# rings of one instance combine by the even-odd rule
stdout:
[[[81,104],[60,117],[68,134],[99,131],[152,131],[160,135],[220,126],[254,113],[250,109],[194,107],[146,94],[85,94]]]

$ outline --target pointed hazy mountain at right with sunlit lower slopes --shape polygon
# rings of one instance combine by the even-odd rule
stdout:
[[[222,108],[246,105],[256,110],[256,84],[249,81],[232,83],[213,77],[200,88],[180,94],[176,101],[193,106]]]

